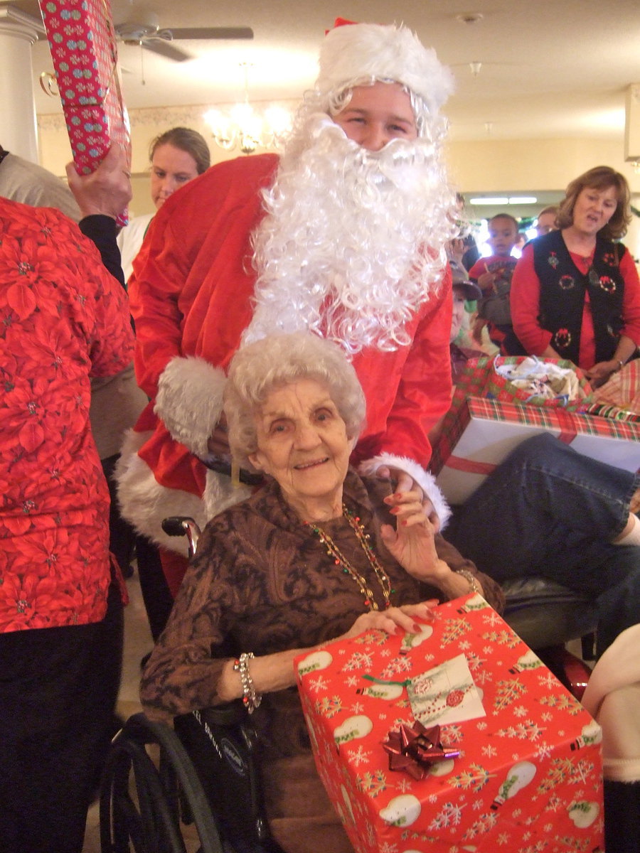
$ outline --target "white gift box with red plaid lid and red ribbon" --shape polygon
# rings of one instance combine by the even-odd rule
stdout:
[[[626,471],[640,468],[640,424],[456,392],[430,469],[447,501],[459,505],[511,450],[540,432],[552,433],[592,459]]]

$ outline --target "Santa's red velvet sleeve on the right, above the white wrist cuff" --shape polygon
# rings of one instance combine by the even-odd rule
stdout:
[[[431,460],[428,433],[451,405],[451,270],[431,299],[404,363],[380,453],[409,456],[422,467]]]

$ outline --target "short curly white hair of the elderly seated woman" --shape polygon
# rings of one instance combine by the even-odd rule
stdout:
[[[224,414],[231,453],[241,467],[257,450],[256,409],[271,391],[303,379],[322,382],[346,424],[347,438],[364,427],[366,403],[356,371],[344,352],[308,332],[274,334],[236,352],[224,388]]]

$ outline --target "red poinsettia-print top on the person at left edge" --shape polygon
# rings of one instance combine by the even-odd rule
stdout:
[[[60,212],[0,199],[0,632],[106,612],[90,377],[132,353],[126,295],[93,243]]]

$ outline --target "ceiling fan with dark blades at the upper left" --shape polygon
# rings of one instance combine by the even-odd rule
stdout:
[[[158,18],[145,13],[140,20],[126,20],[113,26],[116,37],[125,44],[134,44],[165,56],[175,62],[183,62],[192,56],[172,44],[174,41],[211,38],[253,38],[250,26],[188,26],[177,29],[160,29]]]

